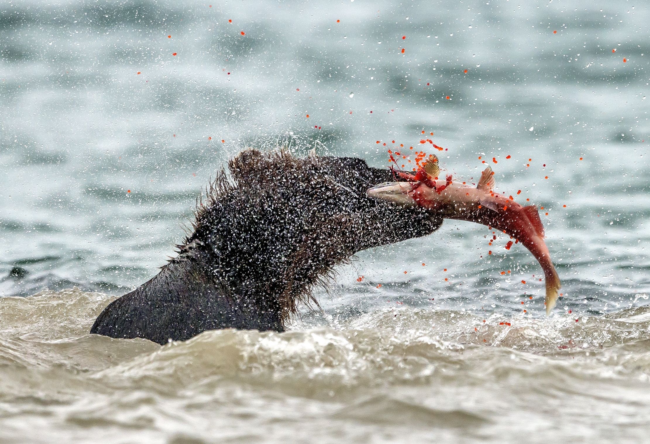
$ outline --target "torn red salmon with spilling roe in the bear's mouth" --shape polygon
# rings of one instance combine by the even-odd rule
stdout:
[[[476,187],[454,182],[451,175],[445,180],[438,179],[440,169],[435,156],[430,156],[415,175],[404,171],[395,173],[406,182],[380,184],[367,193],[402,206],[420,206],[439,212],[446,219],[487,225],[523,243],[544,271],[546,314],[551,313],[562,284],[544,241],[544,227],[536,206],[521,206],[511,197],[495,193],[494,173],[490,167],[482,172]]]

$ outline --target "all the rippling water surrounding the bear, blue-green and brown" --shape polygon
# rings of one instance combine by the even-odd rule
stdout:
[[[0,441],[647,439],[647,23],[623,0],[0,3]],[[86,334],[243,147],[382,166],[422,131],[545,207],[551,317],[530,253],[447,221],[359,254],[285,334]]]

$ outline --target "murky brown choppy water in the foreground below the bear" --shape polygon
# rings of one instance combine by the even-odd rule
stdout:
[[[0,298],[0,441],[622,442],[650,432],[646,308],[485,323],[382,310],[341,328],[222,330],[160,347],[88,335],[111,299]]]

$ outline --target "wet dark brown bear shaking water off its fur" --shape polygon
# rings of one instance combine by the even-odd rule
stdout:
[[[355,253],[425,236],[441,216],[372,199],[395,180],[359,158],[247,149],[199,201],[194,232],[155,277],[113,301],[91,333],[182,341],[205,330],[281,332]]]

